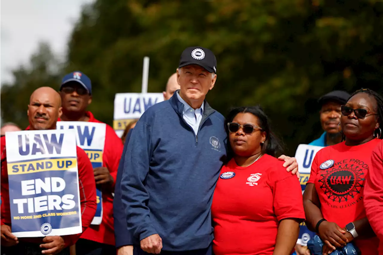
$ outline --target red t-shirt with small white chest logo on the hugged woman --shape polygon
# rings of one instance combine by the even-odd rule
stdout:
[[[211,207],[215,255],[271,255],[279,222],[305,219],[299,180],[282,165],[263,155],[248,167],[234,159],[222,167]]]

